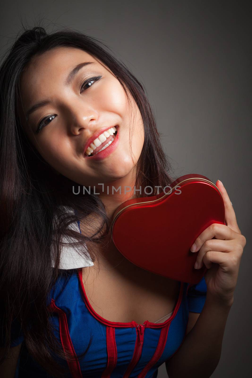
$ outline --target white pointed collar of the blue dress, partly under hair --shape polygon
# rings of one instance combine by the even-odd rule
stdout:
[[[70,212],[74,212],[73,209],[68,208],[68,210]],[[73,223],[69,227],[71,229],[81,233],[79,222]],[[71,240],[76,241],[75,238],[72,238]],[[64,236],[62,238],[62,242],[63,243],[69,243],[69,240],[67,240],[66,237]],[[76,248],[77,247],[74,247],[72,245],[62,246],[61,254],[60,254],[59,269],[77,269],[77,268],[85,268],[86,266],[94,265],[94,263],[92,262],[92,260],[90,258],[87,259],[87,257],[85,257],[85,256],[80,256],[77,253]],[[87,247],[86,247],[86,251],[88,253]],[[54,268],[54,262],[52,262],[52,266]]]

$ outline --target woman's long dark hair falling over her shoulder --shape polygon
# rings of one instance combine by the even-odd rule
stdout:
[[[63,352],[50,326],[47,297],[61,274],[59,269],[62,236],[77,240],[80,254],[97,259],[85,243],[98,245],[110,230],[110,219],[99,196],[73,194],[77,183],[57,175],[31,146],[18,112],[20,74],[33,56],[58,46],[86,51],[102,61],[117,77],[130,100],[133,99],[144,124],[144,146],[136,165],[136,187],[172,183],[171,165],[165,155],[145,89],[128,68],[99,40],[74,29],[48,34],[45,28],[24,28],[7,51],[0,67],[0,295],[4,311],[1,326],[5,335],[5,355],[9,352],[12,322],[18,321],[29,354],[50,374],[63,376],[63,368],[53,359],[71,359]],[[110,50],[110,51],[109,51]],[[78,184],[77,184],[78,185]],[[136,197],[147,197],[136,192]],[[75,209],[71,213],[66,209]],[[78,214],[78,215],[77,215]],[[93,235],[80,234],[70,225],[90,214],[102,219]],[[52,267],[52,260],[55,265]],[[82,358],[85,350],[79,358]]]

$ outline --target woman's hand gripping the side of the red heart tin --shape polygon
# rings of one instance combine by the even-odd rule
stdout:
[[[226,225],[213,223],[206,228],[195,240],[196,249],[192,252],[199,251],[195,268],[201,268],[204,263],[208,269],[204,276],[207,295],[232,304],[246,238],[241,235],[232,203],[220,180],[216,186],[223,197]]]

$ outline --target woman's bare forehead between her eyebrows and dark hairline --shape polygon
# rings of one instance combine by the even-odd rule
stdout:
[[[32,57],[20,76],[23,104],[43,96],[50,88],[63,85],[67,74],[79,63],[94,62],[83,70],[105,68],[105,65],[86,51],[73,47],[57,47]],[[48,93],[47,93],[48,94]]]

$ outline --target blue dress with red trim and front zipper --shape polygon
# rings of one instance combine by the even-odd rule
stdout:
[[[206,300],[204,278],[197,285],[181,282],[172,316],[163,323],[111,322],[91,307],[81,266],[63,268],[61,273],[48,296],[48,308],[57,339],[75,357],[73,361],[59,360],[67,377],[156,378],[158,367],[176,353],[186,336],[189,311],[200,313]],[[22,341],[22,331],[13,324],[11,345]],[[76,354],[83,353],[89,343],[86,355],[79,360]],[[53,378],[32,359],[25,345],[16,377]]]

